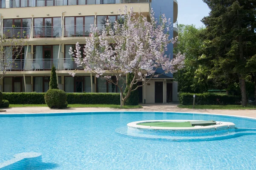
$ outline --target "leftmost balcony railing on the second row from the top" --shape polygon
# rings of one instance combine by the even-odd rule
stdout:
[[[29,38],[30,28],[20,28],[20,27],[5,27],[3,29],[3,34],[6,38]]]

